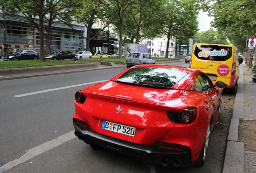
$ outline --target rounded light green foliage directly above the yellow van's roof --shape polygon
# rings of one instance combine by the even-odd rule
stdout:
[[[214,36],[217,37],[216,41],[213,41]],[[229,45],[229,42],[227,41],[227,37],[224,36],[223,33],[213,30],[213,28],[210,28],[209,30],[204,32],[198,32],[195,36],[194,42]]]

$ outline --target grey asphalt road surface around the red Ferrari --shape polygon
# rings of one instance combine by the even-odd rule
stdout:
[[[185,62],[169,63],[188,66]],[[108,150],[94,151],[74,136],[74,94],[124,68],[0,81],[0,172],[218,173],[231,113],[222,109],[202,167],[164,168]],[[234,97],[224,94],[223,100]]]

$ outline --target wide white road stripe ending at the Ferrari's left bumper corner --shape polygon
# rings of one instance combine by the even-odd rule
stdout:
[[[17,166],[25,161],[28,161],[29,159],[32,159],[33,157],[44,153],[45,151],[48,151],[54,147],[57,147],[58,145],[61,145],[73,138],[75,138],[74,131],[71,131],[69,133],[66,133],[65,135],[53,139],[52,141],[48,141],[33,149],[29,149],[26,151],[27,153],[25,153],[25,155],[21,156],[19,159],[10,161],[0,167],[0,173],[2,173],[3,171],[7,171],[8,169],[11,169],[12,167]]]

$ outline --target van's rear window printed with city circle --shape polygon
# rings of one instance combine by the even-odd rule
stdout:
[[[225,61],[232,56],[232,47],[218,45],[196,45],[195,56],[201,60]]]

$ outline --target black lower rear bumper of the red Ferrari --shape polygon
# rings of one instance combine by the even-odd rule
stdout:
[[[166,167],[188,167],[197,162],[197,160],[191,162],[190,149],[184,145],[163,142],[154,145],[131,143],[96,133],[86,123],[77,121],[74,121],[73,125],[76,130],[75,134],[79,135],[79,139],[83,139],[83,141],[92,146],[111,150],[115,154],[140,158],[142,164],[151,163]],[[81,124],[85,124],[86,127]]]

